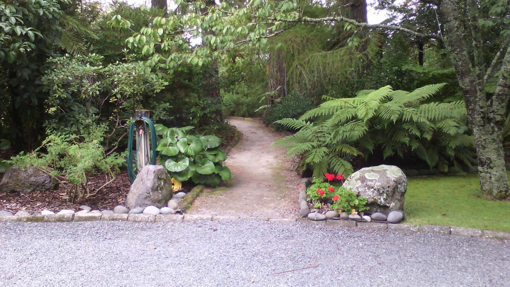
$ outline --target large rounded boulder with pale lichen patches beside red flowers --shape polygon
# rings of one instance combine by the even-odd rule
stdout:
[[[368,213],[388,213],[404,208],[407,178],[394,165],[381,164],[361,169],[345,180],[343,187],[367,199]]]

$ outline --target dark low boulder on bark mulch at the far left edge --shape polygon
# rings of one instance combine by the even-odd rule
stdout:
[[[11,166],[0,182],[0,190],[4,192],[45,192],[55,189],[58,182],[55,178],[39,171],[32,166],[21,169],[17,165]]]

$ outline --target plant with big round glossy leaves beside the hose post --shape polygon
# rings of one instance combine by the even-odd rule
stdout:
[[[158,124],[156,129],[162,136],[156,150],[171,177],[209,186],[231,178],[230,170],[221,164],[226,154],[218,148],[218,137],[187,135],[193,127],[167,128]]]

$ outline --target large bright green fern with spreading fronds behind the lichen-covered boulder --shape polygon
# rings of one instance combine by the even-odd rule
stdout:
[[[474,143],[466,134],[464,102],[423,103],[443,86],[413,92],[385,86],[359,91],[355,98],[329,99],[299,119],[277,121],[298,130],[278,144],[288,147],[289,154],[302,154],[302,167],[313,169],[315,177],[327,170],[350,175],[349,160],[367,158],[375,150],[385,159],[412,153],[441,171],[451,164],[471,166]]]

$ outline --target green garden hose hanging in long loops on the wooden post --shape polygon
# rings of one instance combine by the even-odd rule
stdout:
[[[136,133],[137,136],[137,146],[136,146],[136,152],[134,156],[134,162],[133,162],[133,134],[135,132],[136,124],[140,121],[143,121],[143,128],[139,129]],[[150,132],[150,146],[148,144],[145,144],[142,137],[147,132],[147,128]],[[140,147],[140,145],[142,145]],[[129,136],[127,138],[127,176],[129,176],[129,180],[131,183],[135,181],[136,173],[135,169],[137,169],[138,166],[138,152],[140,149],[143,150],[143,161],[142,163],[145,165],[145,159],[147,159],[147,164],[156,164],[156,127],[154,126],[154,123],[150,120],[148,117],[139,116],[133,123],[131,123],[129,127]]]

